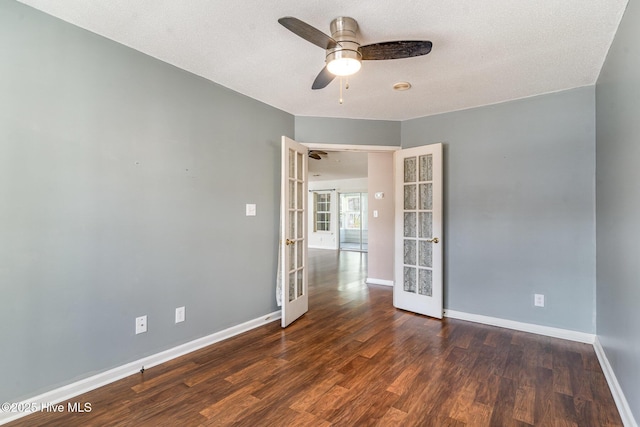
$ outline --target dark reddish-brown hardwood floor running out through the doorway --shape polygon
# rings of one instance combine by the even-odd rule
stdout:
[[[396,310],[366,254],[310,251],[310,310],[12,426],[621,426],[593,347]]]

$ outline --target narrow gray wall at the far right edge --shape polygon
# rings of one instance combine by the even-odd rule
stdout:
[[[596,85],[600,342],[640,421],[640,5],[630,1]]]

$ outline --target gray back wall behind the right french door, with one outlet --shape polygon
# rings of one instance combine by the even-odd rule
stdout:
[[[586,87],[402,123],[444,143],[445,308],[595,332],[594,117]]]

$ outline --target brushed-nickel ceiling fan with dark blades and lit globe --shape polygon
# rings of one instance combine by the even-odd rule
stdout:
[[[349,17],[339,17],[329,26],[331,37],[315,27],[285,16],[278,19],[285,28],[326,50],[326,65],[320,71],[311,89],[326,87],[336,76],[350,76],[360,70],[361,61],[401,59],[422,56],[431,52],[427,40],[398,40],[361,46],[358,42],[358,23]]]

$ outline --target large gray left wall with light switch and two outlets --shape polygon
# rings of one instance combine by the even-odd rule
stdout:
[[[13,1],[0,64],[0,402],[277,309],[293,116]]]

